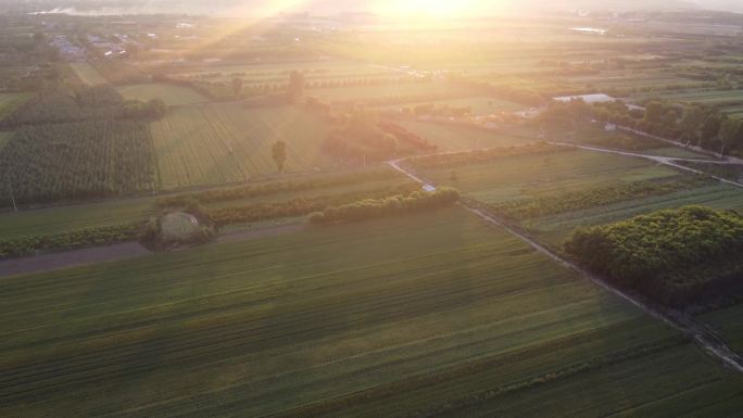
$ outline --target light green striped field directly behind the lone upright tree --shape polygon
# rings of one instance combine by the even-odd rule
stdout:
[[[275,175],[270,148],[277,140],[288,144],[287,173],[327,167],[319,144],[328,129],[300,107],[232,103],[174,109],[150,124],[163,189]]]

